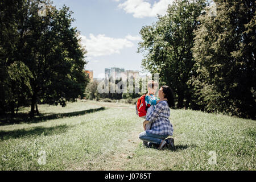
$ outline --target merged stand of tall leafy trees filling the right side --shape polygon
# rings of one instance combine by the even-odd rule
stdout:
[[[255,17],[254,0],[176,0],[142,27],[142,66],[173,88],[178,108],[255,118]]]

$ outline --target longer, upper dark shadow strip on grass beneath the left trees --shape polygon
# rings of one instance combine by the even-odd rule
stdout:
[[[37,123],[41,121],[47,121],[51,119],[59,119],[59,118],[66,118],[66,117],[74,117],[77,115],[84,115],[88,113],[94,113],[100,110],[105,110],[105,107],[100,107],[97,109],[88,109],[88,110],[82,110],[82,111],[75,111],[71,113],[47,113],[46,114],[40,114],[39,116],[36,116],[34,118],[30,118],[29,113],[19,113],[15,115],[14,118],[12,118],[10,115],[1,116],[0,118],[0,126],[3,125],[11,125],[11,124],[19,124],[19,123]]]

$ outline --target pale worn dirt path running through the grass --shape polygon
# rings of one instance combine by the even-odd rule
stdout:
[[[123,103],[113,103],[113,102],[98,102],[97,104],[92,104],[97,106],[103,106],[107,109],[117,108],[117,109],[135,109],[133,105],[123,104]],[[139,120],[139,118],[138,118]],[[138,147],[141,140],[139,139],[139,133],[142,132],[142,123],[136,122],[133,127],[131,127],[130,132],[125,134],[125,138],[119,143],[118,150],[107,152],[107,154],[102,154],[96,156],[94,159],[85,160],[79,164],[74,163],[68,167],[68,170],[101,170],[101,171],[120,171],[126,170],[126,164],[131,158],[133,158],[134,152]]]

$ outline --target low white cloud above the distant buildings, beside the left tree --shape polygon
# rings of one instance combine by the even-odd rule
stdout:
[[[81,38],[82,44],[85,46],[87,51],[86,55],[89,57],[112,55],[113,53],[120,53],[120,50],[123,48],[130,48],[134,46],[134,44],[126,38],[110,38],[104,34],[99,34],[97,36],[90,34],[89,38],[81,35]]]

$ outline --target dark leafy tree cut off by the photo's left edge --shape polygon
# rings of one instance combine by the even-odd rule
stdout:
[[[19,106],[27,104],[24,98],[30,96],[30,71],[20,59],[23,47],[22,36],[26,32],[26,21],[22,14],[29,2],[3,0],[0,2],[0,113],[14,114]],[[22,94],[22,95],[20,95]]]

